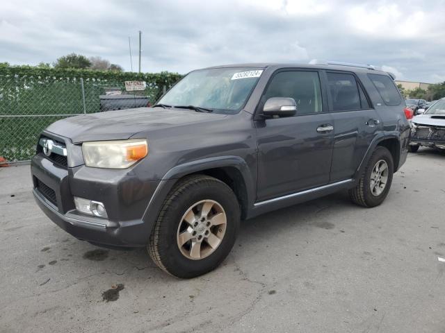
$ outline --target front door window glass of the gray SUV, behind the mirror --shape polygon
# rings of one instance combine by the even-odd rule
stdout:
[[[263,102],[289,97],[297,103],[297,114],[323,112],[321,85],[316,71],[280,71],[270,81]]]

